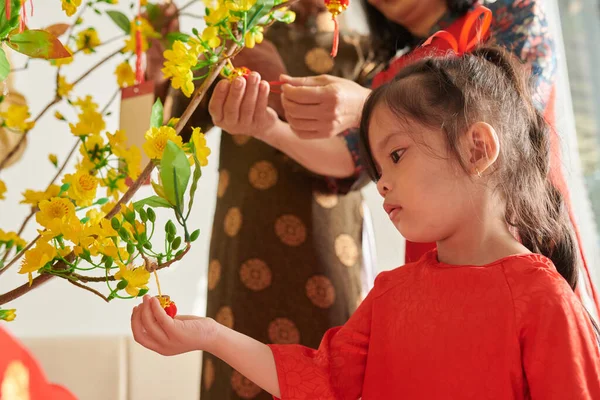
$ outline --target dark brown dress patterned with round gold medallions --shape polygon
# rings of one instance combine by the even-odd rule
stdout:
[[[314,23],[267,31],[288,73],[364,81],[375,67],[368,40],[344,36],[334,63],[332,34]],[[175,100],[175,115],[185,103]],[[206,131],[209,120],[199,110],[190,125]],[[348,190],[354,180],[316,176],[261,141],[224,132],[206,315],[264,343],[312,347],[344,324],[367,291],[363,201]],[[202,369],[202,400],[271,398],[210,354]]]

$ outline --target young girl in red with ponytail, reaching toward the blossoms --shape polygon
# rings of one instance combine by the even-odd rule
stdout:
[[[318,350],[173,320],[149,297],[135,339],[163,355],[208,351],[282,399],[600,399],[575,242],[530,99],[495,48],[416,62],[373,92],[366,165],[400,233],[437,250],[381,273]]]

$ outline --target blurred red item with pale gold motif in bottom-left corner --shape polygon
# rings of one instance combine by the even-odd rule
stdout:
[[[31,353],[2,328],[0,349],[0,399],[76,399],[67,389],[49,383]]]

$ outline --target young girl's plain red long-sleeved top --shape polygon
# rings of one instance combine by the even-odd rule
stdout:
[[[319,347],[270,345],[281,399],[600,399],[587,314],[546,257],[381,273]]]

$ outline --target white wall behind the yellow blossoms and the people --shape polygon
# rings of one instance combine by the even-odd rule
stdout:
[[[128,2],[121,1],[124,12]],[[182,5],[184,1],[176,1]],[[30,19],[29,26],[45,27],[57,22],[67,22],[67,18],[60,10],[58,2],[35,2],[35,15]],[[190,13],[200,14],[199,5],[191,8]],[[84,18],[85,24],[97,28],[102,40],[107,40],[120,34],[112,22],[106,17],[99,17],[93,12],[88,12]],[[191,30],[191,19],[183,19],[183,29]],[[111,43],[99,49],[98,54],[81,57],[72,65],[64,68],[68,80],[78,77],[97,60],[119,48],[121,41]],[[24,58],[13,53],[15,67],[23,65]],[[116,88],[113,71],[120,62],[116,57],[112,62],[97,70],[92,76],[85,79],[75,90],[81,96],[93,94],[100,107],[112,96]],[[29,102],[32,115],[37,115],[44,108],[54,90],[54,69],[42,60],[31,61],[27,72],[16,76],[17,89],[25,95]],[[67,107],[57,107],[68,115]],[[113,115],[107,119],[107,130],[114,131],[118,127],[118,101],[111,108]],[[2,171],[9,192],[7,199],[0,203],[0,228],[16,230],[28,213],[28,207],[19,205],[21,193],[27,189],[44,188],[53,174],[54,167],[47,160],[49,153],[58,155],[59,160],[66,157],[76,138],[69,132],[68,127],[59,123],[54,117],[54,109],[47,113],[37,127],[30,132],[27,150],[21,161],[14,167]],[[177,265],[163,270],[160,273],[161,287],[170,294],[178,304],[180,313],[195,313],[202,315],[205,310],[206,295],[206,270],[208,258],[208,243],[211,232],[211,220],[214,213],[218,144],[220,133],[213,130],[208,135],[209,146],[213,149],[209,166],[203,171],[199,182],[195,210],[192,213],[193,226],[201,229],[200,239],[194,244],[190,253]],[[137,198],[150,194],[148,188],[138,192]],[[380,263],[385,269],[400,265],[403,246],[396,244],[401,240],[400,235],[387,221],[387,216],[381,209],[381,201],[371,186],[366,190],[368,202],[373,210],[375,228],[378,233],[378,246]],[[164,215],[164,214],[162,214]],[[161,214],[159,213],[159,218]],[[25,232],[26,238],[35,236],[35,224],[31,223]],[[157,236],[157,240],[159,237]],[[394,240],[394,241],[392,241]],[[388,246],[389,243],[394,243]],[[399,243],[399,242],[398,242]],[[16,285],[26,282],[26,277],[16,274],[18,268],[6,273],[0,278],[0,291],[12,289]],[[151,281],[151,290],[155,290]],[[18,310],[18,318],[10,323],[3,324],[16,335],[24,336],[54,336],[54,335],[111,335],[126,334],[129,332],[129,315],[131,308],[137,303],[135,300],[114,300],[110,304],[104,303],[100,298],[79,288],[69,285],[61,279],[54,279],[46,285],[30,292],[5,307],[14,307]]]

